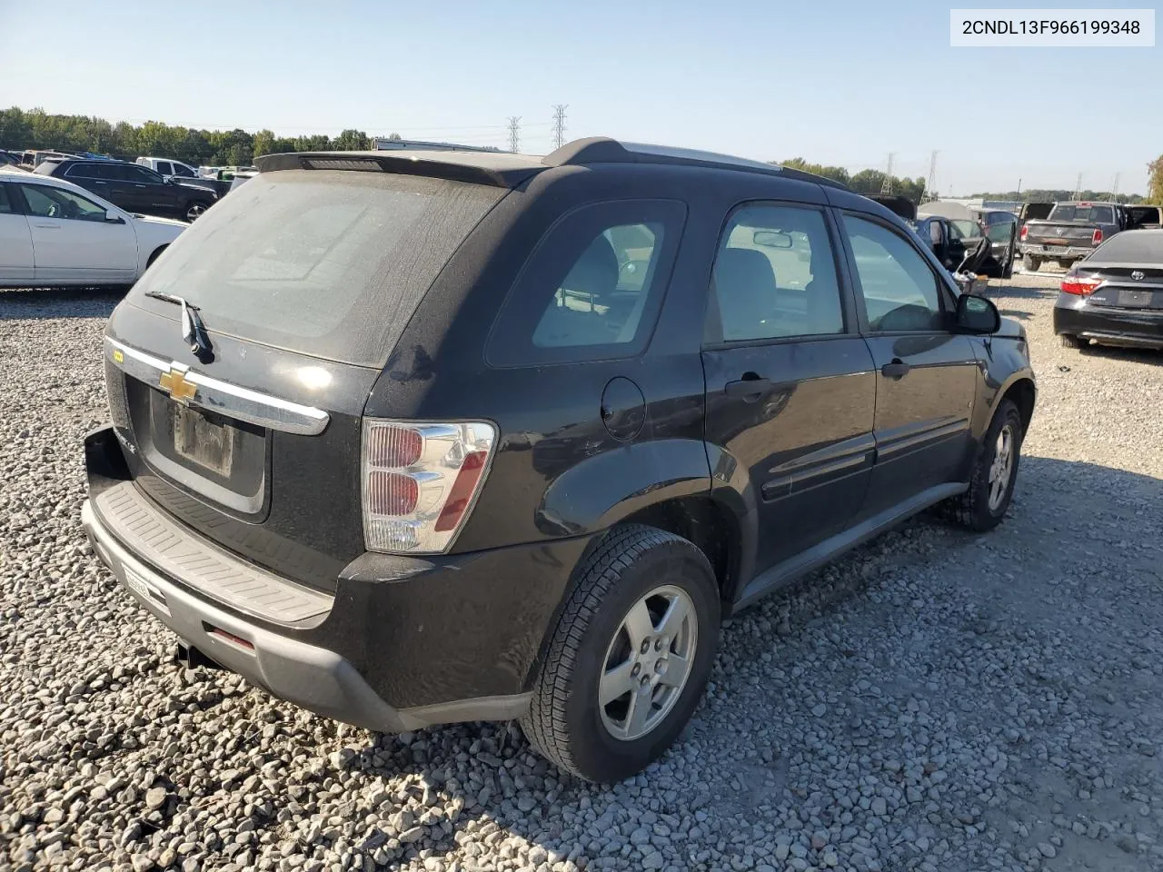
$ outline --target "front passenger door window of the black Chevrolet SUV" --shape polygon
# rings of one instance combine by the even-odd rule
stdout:
[[[856,277],[873,330],[936,330],[944,323],[937,279],[904,237],[889,228],[844,215]]]

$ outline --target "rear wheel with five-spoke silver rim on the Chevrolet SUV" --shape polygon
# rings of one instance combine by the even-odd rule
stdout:
[[[534,748],[562,770],[587,781],[620,781],[673,743],[702,696],[719,637],[719,587],[693,543],[641,524],[611,531],[575,578],[521,727]],[[671,629],[662,617],[679,614],[669,610],[678,607],[686,615],[676,624],[679,631],[664,636],[665,648],[657,639],[651,645],[655,634]],[[638,630],[647,627],[643,617],[649,621],[645,632],[635,634],[645,637],[640,643],[648,646],[645,652],[632,648],[627,626],[634,614]],[[675,687],[682,669],[675,664],[684,662],[684,650],[688,667]],[[607,669],[611,663],[623,669]],[[649,684],[641,684],[647,678]],[[604,679],[609,693],[627,687],[605,706],[599,703]],[[638,694],[643,687],[650,688],[649,696]],[[638,700],[649,700],[648,707],[636,707]],[[656,720],[642,723],[635,713]],[[640,729],[644,731],[635,731]]]

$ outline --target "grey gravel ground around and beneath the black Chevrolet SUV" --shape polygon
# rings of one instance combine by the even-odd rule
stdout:
[[[992,292],[1040,379],[1006,522],[919,519],[730,621],[615,787],[174,666],[78,522],[115,296],[0,293],[0,867],[1163,869],[1163,355],[1058,348],[1053,288]]]

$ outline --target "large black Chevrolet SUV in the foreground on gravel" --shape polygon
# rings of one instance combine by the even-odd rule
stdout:
[[[614,780],[725,616],[1006,512],[1021,328],[842,186],[600,138],[258,165],[113,313],[85,445],[92,543],[191,662]]]

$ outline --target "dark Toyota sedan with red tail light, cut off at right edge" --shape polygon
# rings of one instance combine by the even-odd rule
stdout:
[[[1066,348],[1163,348],[1163,230],[1125,230],[1070,267],[1054,333]]]

